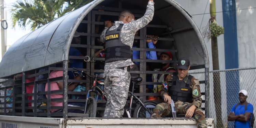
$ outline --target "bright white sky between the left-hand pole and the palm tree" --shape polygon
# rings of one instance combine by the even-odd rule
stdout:
[[[6,11],[5,19],[8,23],[8,28],[6,29],[6,50],[23,35],[31,32],[30,27],[20,28],[18,25],[16,25],[15,28],[12,27],[11,9],[16,1],[18,0],[4,0],[4,11]]]

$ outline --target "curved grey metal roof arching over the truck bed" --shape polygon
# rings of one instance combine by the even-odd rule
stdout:
[[[68,60],[69,47],[77,27],[89,11],[103,1],[94,0],[17,40],[2,58],[0,77]],[[145,1],[136,2],[136,0],[129,0],[123,2],[129,2],[130,4],[145,8],[145,4],[141,4]],[[170,6],[166,3],[169,3],[175,10],[165,11],[165,8]],[[172,34],[177,51],[186,51],[178,52],[178,56],[188,57],[191,60],[192,66],[205,65],[205,67],[209,67],[207,49],[202,35],[191,16],[172,0],[155,1],[155,9],[161,10],[155,12],[154,16],[157,16],[165,25],[171,26],[174,30],[186,27],[194,29],[194,31],[187,31],[182,34]],[[175,19],[179,19],[179,23]]]

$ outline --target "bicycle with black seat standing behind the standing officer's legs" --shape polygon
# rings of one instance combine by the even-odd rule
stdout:
[[[102,77],[99,77],[98,74],[95,76],[89,75],[87,72],[84,72],[83,70],[73,68],[76,71],[79,71],[79,75],[81,77],[85,77],[83,74],[85,73],[87,76],[90,78],[94,79],[93,83],[93,89],[87,91],[87,97],[85,100],[85,114],[88,114],[89,117],[96,117],[96,111],[97,111],[97,101],[98,101],[98,95],[101,94],[101,96],[107,101],[106,96],[104,95],[104,91],[98,86],[98,84],[101,84],[104,86],[104,83],[101,81],[98,81],[100,79],[104,79]],[[134,109],[133,113],[133,118],[150,118],[152,115],[152,111],[155,108],[155,106],[158,104],[155,101],[145,101],[143,102],[140,98],[138,98],[134,93],[134,85],[141,83],[142,78],[141,77],[136,77],[136,78],[131,78],[132,82],[132,91],[128,91],[128,93],[131,95],[130,98],[130,103],[129,103],[129,108],[126,110],[126,113],[129,118],[131,118],[131,110],[132,110],[132,103],[136,103],[137,106]],[[94,97],[89,97],[90,92],[95,92],[96,93],[96,98]],[[135,100],[133,100],[135,98]],[[88,100],[89,99],[89,100]],[[88,104],[89,101],[89,104]],[[88,104],[88,106],[87,106]]]

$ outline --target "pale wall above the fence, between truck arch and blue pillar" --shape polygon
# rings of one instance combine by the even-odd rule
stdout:
[[[203,33],[207,26],[210,16],[210,0],[178,0],[179,3],[190,15],[193,16],[193,20]],[[205,9],[206,8],[206,9]],[[205,12],[204,12],[205,11]],[[216,21],[220,26],[223,26],[222,17],[222,0],[216,0]],[[205,14],[206,13],[206,14]],[[200,15],[197,15],[200,14]],[[201,26],[201,27],[200,27]],[[225,55],[224,55],[224,35],[220,35],[218,38],[218,51],[219,51],[219,69],[225,69]],[[212,48],[211,39],[204,38],[205,45],[207,47],[210,71],[212,71]]]

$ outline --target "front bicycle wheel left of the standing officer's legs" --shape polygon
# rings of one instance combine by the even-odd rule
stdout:
[[[89,115],[89,117],[96,117],[96,110],[97,110],[97,102],[96,99],[93,97],[89,97],[89,103],[86,109],[86,114]]]

